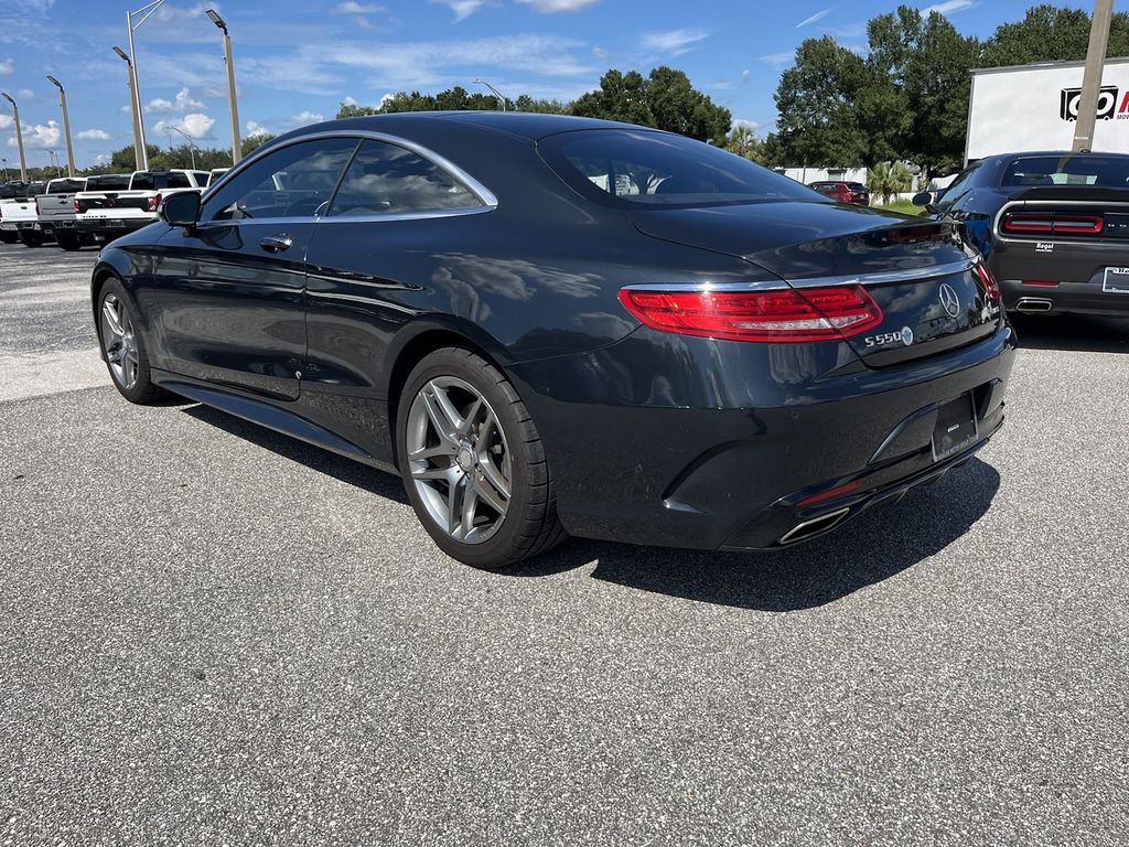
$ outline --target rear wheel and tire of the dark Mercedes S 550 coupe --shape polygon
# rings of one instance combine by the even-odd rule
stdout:
[[[500,568],[564,538],[536,427],[485,359],[460,348],[425,357],[404,384],[396,434],[412,507],[452,558]]]

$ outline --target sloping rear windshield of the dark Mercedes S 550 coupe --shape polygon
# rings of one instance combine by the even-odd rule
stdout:
[[[717,206],[762,200],[825,202],[787,176],[682,136],[579,130],[543,139],[545,161],[594,200],[632,206]]]

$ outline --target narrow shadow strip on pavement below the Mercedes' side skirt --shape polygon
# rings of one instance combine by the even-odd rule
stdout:
[[[182,401],[183,402],[183,401]],[[266,429],[259,424],[251,424],[227,412],[199,403],[184,407],[185,414],[191,414],[199,421],[230,433],[237,438],[269,449],[272,453],[304,464],[318,473],[325,473],[334,479],[348,482],[369,494],[385,497],[396,503],[408,503],[404,484],[399,477],[369,468],[352,459],[339,456],[327,449],[299,442],[288,435]]]

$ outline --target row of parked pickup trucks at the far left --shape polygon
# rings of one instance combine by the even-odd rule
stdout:
[[[0,185],[0,242],[65,251],[112,242],[157,220],[165,198],[202,193],[227,168],[135,171]]]

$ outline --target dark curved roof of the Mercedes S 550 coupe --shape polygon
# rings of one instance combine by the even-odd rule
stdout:
[[[596,129],[648,129],[633,123],[602,121],[595,117],[575,117],[572,115],[542,114],[539,112],[397,112],[391,115],[366,115],[364,117],[344,117],[336,121],[325,121],[299,130],[288,132],[282,139],[298,138],[315,132],[333,132],[335,130],[366,130],[368,132],[387,132],[390,134],[410,133],[413,128],[434,125],[443,121],[448,131],[460,129],[485,129],[495,132],[516,136],[530,141],[537,141],[546,136],[574,130]],[[662,132],[662,130],[651,130]]]

